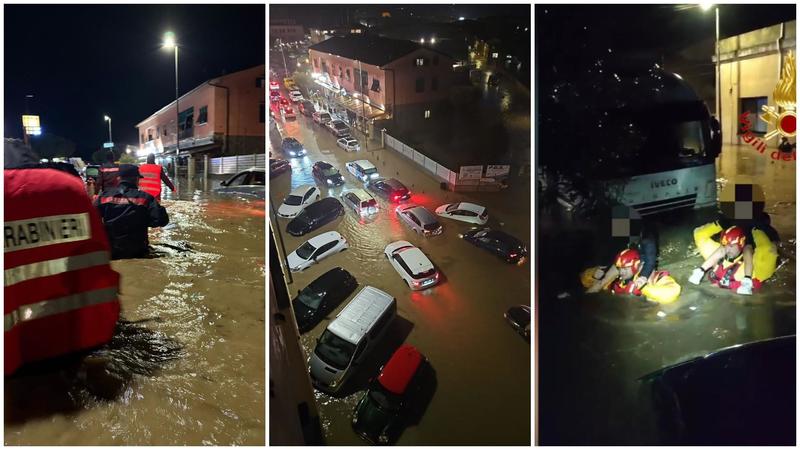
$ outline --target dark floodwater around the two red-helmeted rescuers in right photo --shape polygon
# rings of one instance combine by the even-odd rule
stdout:
[[[659,267],[683,288],[663,318],[663,308],[635,298],[580,293],[580,270],[596,263],[593,256],[619,249],[603,248],[610,240],[596,225],[574,226],[540,213],[541,444],[662,443],[639,377],[720,348],[796,333],[796,163],[773,161],[748,146],[724,146],[716,167],[719,191],[727,183],[763,188],[781,237],[779,268],[753,296],[687,281],[701,262],[692,230],[713,220],[714,208],[659,218]]]

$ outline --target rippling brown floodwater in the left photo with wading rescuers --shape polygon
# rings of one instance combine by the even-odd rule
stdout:
[[[112,263],[138,331],[77,369],[7,378],[5,444],[264,444],[264,202],[181,182],[155,257]]]

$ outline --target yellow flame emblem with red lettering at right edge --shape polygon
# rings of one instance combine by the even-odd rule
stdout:
[[[764,114],[759,118],[769,125],[773,130],[764,135],[764,140],[770,140],[778,135],[787,138],[797,134],[797,72],[795,58],[792,52],[786,55],[781,70],[781,78],[775,90],[772,91],[772,100],[776,106],[764,105],[761,110]]]

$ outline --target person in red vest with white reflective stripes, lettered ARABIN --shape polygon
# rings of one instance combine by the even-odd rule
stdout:
[[[6,375],[21,365],[102,345],[119,318],[119,274],[79,177],[4,142]]]

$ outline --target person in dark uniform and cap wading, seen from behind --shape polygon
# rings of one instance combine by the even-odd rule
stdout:
[[[119,185],[104,189],[95,206],[111,241],[112,259],[141,258],[149,251],[147,228],[163,227],[169,217],[152,195],[139,190],[141,175],[135,165],[120,165],[119,174]]]

